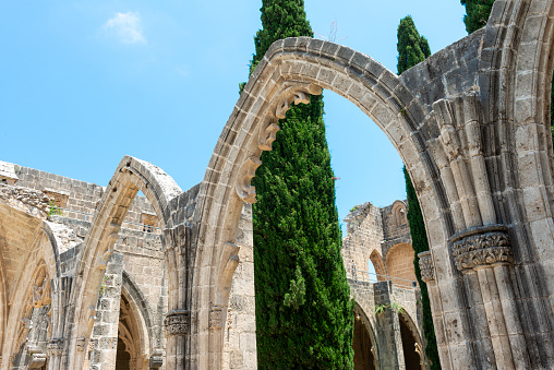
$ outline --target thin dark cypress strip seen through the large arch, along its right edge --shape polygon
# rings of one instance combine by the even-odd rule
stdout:
[[[408,195],[408,224],[410,225],[411,241],[414,251],[413,266],[416,267],[416,277],[421,290],[421,306],[423,308],[423,333],[427,345],[425,346],[425,355],[431,360],[431,369],[441,369],[438,358],[438,349],[436,347],[435,327],[433,325],[433,315],[431,313],[431,302],[429,300],[427,285],[421,279],[421,270],[418,253],[429,250],[427,236],[425,234],[425,224],[421,213],[420,203],[416,195],[416,189],[411,182],[410,176],[404,168],[406,178],[406,193]]]

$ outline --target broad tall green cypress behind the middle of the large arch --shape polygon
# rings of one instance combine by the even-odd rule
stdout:
[[[263,0],[251,72],[272,43],[313,36],[302,0]],[[353,303],[346,278],[335,182],[312,96],[279,120],[253,184],[256,341],[260,369],[352,369]]]

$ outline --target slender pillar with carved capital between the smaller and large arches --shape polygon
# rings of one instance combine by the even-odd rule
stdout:
[[[184,370],[186,348],[191,327],[191,312],[189,299],[189,264],[191,229],[178,225],[164,230],[166,249],[166,265],[168,272],[169,312],[164,319],[166,342],[166,368],[169,370]]]

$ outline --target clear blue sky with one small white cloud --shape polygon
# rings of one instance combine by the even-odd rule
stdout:
[[[106,186],[125,154],[185,190],[202,181],[246,79],[261,1],[2,1],[0,160]],[[312,28],[396,72],[411,14],[433,52],[465,37],[458,0],[305,0]],[[325,92],[341,218],[406,196],[401,160],[356,106]]]

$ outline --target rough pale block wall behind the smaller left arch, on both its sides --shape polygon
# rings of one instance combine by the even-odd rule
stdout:
[[[49,223],[60,225],[60,229],[67,227],[74,248],[60,250],[62,271],[71,274],[76,267],[76,258],[81,249],[81,242],[86,237],[93,220],[93,215],[104,194],[105,188],[96,183],[70,179],[63,176],[45,172],[8,163],[0,163],[0,169],[4,177],[9,176],[10,184],[0,183],[0,199],[11,205],[21,208],[33,210],[37,217],[46,218],[48,215],[48,198],[62,202],[61,214],[49,216]],[[10,170],[11,169],[11,170]],[[15,176],[14,176],[15,175]],[[15,177],[15,179],[13,179]],[[7,181],[2,181],[7,183]],[[38,202],[38,203],[37,203]],[[21,204],[17,204],[21,203]],[[37,204],[35,204],[37,203]],[[67,211],[71,210],[71,211]],[[73,211],[73,212],[72,212]],[[161,248],[160,230],[157,220],[155,227],[143,225],[147,217],[150,223],[155,212],[145,196],[137,195],[121,227],[120,238],[116,241],[115,251],[108,262],[107,272],[110,274],[111,286],[103,288],[98,300],[98,311],[93,330],[93,341],[88,350],[91,369],[101,369],[105,361],[103,351],[113,349],[118,338],[119,305],[121,300],[122,275],[131,281],[132,285],[140,288],[144,301],[135,302],[146,305],[152,318],[149,327],[149,342],[153,348],[143,348],[146,351],[135,362],[138,369],[149,369],[149,357],[153,350],[162,350],[165,338],[162,334],[162,318],[167,312],[168,293],[166,281],[165,256]],[[132,224],[131,224],[132,223]],[[105,284],[104,284],[105,285]],[[143,319],[138,319],[141,322]],[[148,344],[148,347],[150,346]],[[162,356],[162,353],[157,355]],[[156,368],[164,368],[156,367]]]

